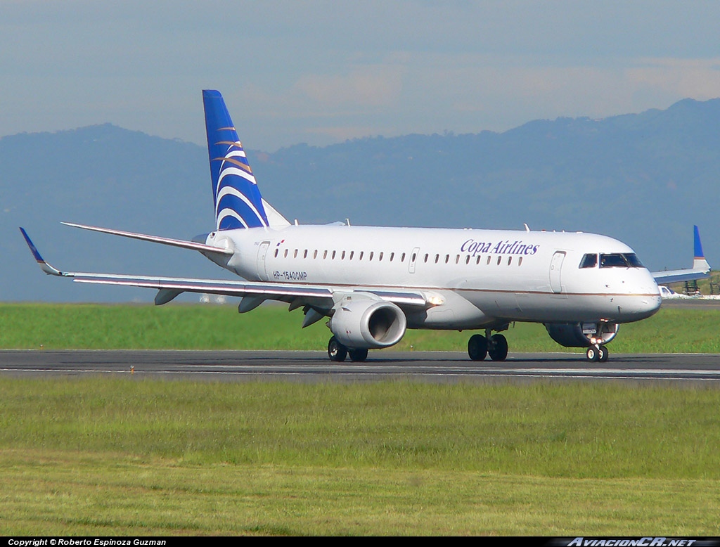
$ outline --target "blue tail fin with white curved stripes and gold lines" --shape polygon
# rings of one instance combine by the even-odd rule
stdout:
[[[203,90],[216,230],[268,225],[263,199],[219,91]]]

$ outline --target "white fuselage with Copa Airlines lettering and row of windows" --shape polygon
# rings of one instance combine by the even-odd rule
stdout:
[[[581,232],[292,225],[212,232],[206,243],[234,250],[215,261],[251,281],[420,292],[437,305],[408,315],[412,328],[631,322],[662,301],[647,268],[580,268],[588,253],[633,253]]]

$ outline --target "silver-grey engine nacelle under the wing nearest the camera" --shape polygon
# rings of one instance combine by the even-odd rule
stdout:
[[[328,325],[338,342],[353,349],[387,348],[405,335],[408,320],[392,302],[345,300]]]

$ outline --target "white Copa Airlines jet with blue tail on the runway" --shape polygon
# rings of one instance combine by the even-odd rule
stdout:
[[[480,330],[469,338],[469,358],[504,361],[508,341],[500,333],[513,322],[539,322],[557,343],[585,348],[588,361],[602,362],[621,323],[660,308],[653,274],[628,245],[603,235],[531,231],[527,225],[476,230],[291,223],[262,198],[220,92],[204,90],[202,97],[214,230],[188,241],[63,224],[197,250],[242,280],[60,271],[21,227],[42,271],[78,283],[156,289],[156,305],[183,292],[240,297],[240,313],[266,300],[285,302],[289,311],[302,308],[302,327],[328,317],[332,361],[348,355],[365,361],[370,349],[397,344],[407,329]]]

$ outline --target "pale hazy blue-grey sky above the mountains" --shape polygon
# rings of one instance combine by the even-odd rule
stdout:
[[[717,1],[0,0],[0,136],[112,122],[248,148],[507,130],[720,96]]]

